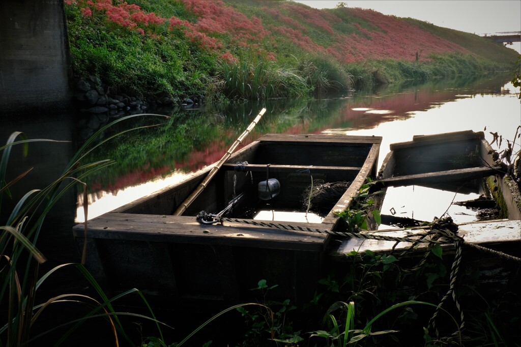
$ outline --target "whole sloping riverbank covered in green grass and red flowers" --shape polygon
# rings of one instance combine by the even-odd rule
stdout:
[[[76,99],[98,109],[295,98],[513,71],[518,56],[475,34],[345,3],[318,10],[291,1],[64,2]]]

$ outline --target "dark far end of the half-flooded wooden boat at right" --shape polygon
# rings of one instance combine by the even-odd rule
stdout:
[[[521,220],[519,190],[505,172],[483,132],[416,135],[411,142],[390,145],[378,187],[416,185],[490,196],[502,206],[502,217]]]

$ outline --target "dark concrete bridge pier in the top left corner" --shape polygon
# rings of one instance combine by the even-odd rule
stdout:
[[[63,0],[0,1],[0,115],[70,106]]]

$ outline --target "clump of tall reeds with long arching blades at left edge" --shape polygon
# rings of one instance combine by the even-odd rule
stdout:
[[[116,345],[119,343],[120,336],[129,340],[119,318],[121,315],[128,313],[117,313],[114,309],[113,302],[131,293],[138,293],[144,300],[143,295],[137,289],[131,289],[115,298],[109,299],[82,264],[59,265],[51,269],[51,271],[40,275],[40,264],[45,262],[45,257],[38,248],[36,248],[36,244],[43,232],[43,223],[47,214],[60,197],[78,183],[82,183],[84,178],[89,174],[102,170],[114,163],[110,160],[85,161],[86,156],[90,152],[102,146],[108,140],[118,136],[118,134],[107,137],[97,143],[95,142],[96,139],[100,138],[101,134],[108,127],[132,117],[138,117],[138,115],[123,117],[102,127],[83,144],[76,155],[70,160],[63,173],[51,184],[43,189],[28,191],[27,194],[18,201],[12,211],[7,211],[6,213],[6,211],[0,210],[2,215],[6,216],[5,220],[0,221],[0,230],[2,232],[0,234],[0,276],[2,278],[0,304],[2,305],[3,314],[5,313],[0,325],[0,345],[10,347],[41,343],[41,338],[46,336],[47,333],[56,329],[69,327],[57,341],[54,341],[56,345],[58,345],[62,343],[74,329],[85,322],[86,319],[94,317],[103,317],[107,320],[107,324],[113,331]],[[130,130],[122,131],[120,134],[127,131]],[[28,139],[23,133],[15,132],[8,138],[6,145],[0,147],[0,151],[2,151],[2,157],[0,159],[0,209],[2,208],[1,202],[2,199],[5,198],[4,196],[11,197],[9,189],[16,184],[23,184],[24,177],[27,176],[30,171],[16,173],[15,178],[9,178],[8,181],[7,163],[13,147],[21,146],[23,148],[23,155],[27,155],[29,146],[48,141],[54,142],[53,140],[47,139]],[[87,210],[85,205],[85,217],[86,214]],[[85,230],[86,223],[87,222],[85,222]],[[77,268],[84,276],[86,282],[94,289],[97,298],[81,293],[67,293],[49,298],[42,303],[37,303],[36,293],[42,284],[48,281],[51,275],[65,267]],[[145,305],[148,306],[146,300],[144,302]],[[38,320],[49,306],[63,303],[85,305],[89,307],[89,312],[82,317],[70,319],[63,326],[58,324],[47,331],[38,333],[32,330],[36,320]],[[150,306],[148,306],[148,308],[150,309]],[[142,315],[134,316],[139,316],[143,319],[152,319],[159,328],[159,323],[155,320],[152,311],[150,312],[151,317]],[[160,329],[159,335],[162,336]],[[48,342],[49,341],[46,341],[44,344],[48,344]]]

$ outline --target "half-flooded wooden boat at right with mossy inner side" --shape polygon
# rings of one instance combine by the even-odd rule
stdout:
[[[505,168],[494,160],[493,151],[482,132],[464,131],[414,136],[411,142],[391,144],[390,149],[378,174],[378,184],[376,185],[378,189],[385,192],[388,187],[416,185],[453,192],[494,194],[494,198],[500,201],[499,204],[508,210],[503,211],[504,219],[462,223],[455,226],[457,235],[473,245],[498,250],[516,257],[521,256],[519,249],[521,242],[519,190],[515,184],[508,185],[508,178],[503,177]],[[497,186],[498,189],[490,187],[491,184]],[[384,198],[385,195],[381,195],[381,198],[377,197],[377,208],[381,208]],[[403,224],[419,222],[382,215],[382,221],[385,219],[394,222],[402,220]],[[426,234],[430,230],[429,226],[418,224],[412,223],[407,227],[398,228],[380,228],[363,233],[376,237],[417,239],[418,235]],[[397,243],[377,239],[351,238],[344,240],[336,252],[337,255],[347,254],[353,250],[387,253],[391,250],[403,251],[410,246],[412,246],[411,242]],[[409,256],[423,253],[425,247],[427,247],[426,244],[420,245],[416,251],[410,252]],[[449,253],[453,250],[452,245],[446,245],[445,248]],[[512,279],[518,269],[518,264],[515,262],[511,263],[508,260],[498,262],[497,254],[484,254],[475,249],[470,253],[473,255],[470,256],[469,262],[473,264],[474,269],[481,269],[482,282],[503,281],[502,283],[505,284],[505,278]],[[490,272],[491,266],[494,267],[493,272]],[[483,272],[483,269],[486,271]]]

